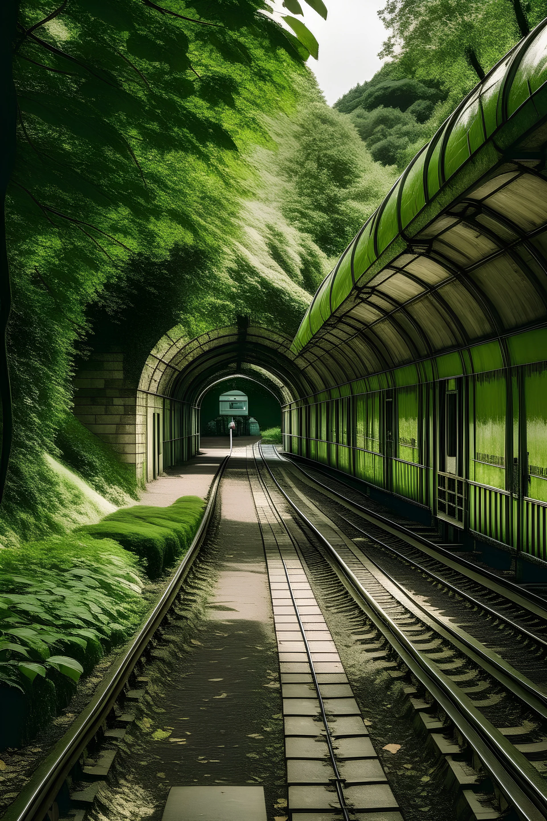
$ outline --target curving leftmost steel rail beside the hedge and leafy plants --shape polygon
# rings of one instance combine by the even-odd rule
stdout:
[[[215,509],[218,488],[221,484],[221,479],[230,456],[231,451],[218,466],[217,472],[212,480],[209,499],[203,513],[202,521],[199,524],[188,552],[177,567],[175,575],[172,577],[169,585],[167,585],[163,591],[161,599],[159,599],[153,608],[153,611],[144,622],[144,625],[140,627],[137,635],[134,635],[134,637],[125,644],[121,654],[116,658],[116,661],[112,663],[112,666],[107,672],[107,676],[98,686],[95,695],[93,695],[93,699],[91,699],[87,707],[82,710],[65,735],[57,741],[52,751],[34,771],[30,782],[21,791],[19,796],[17,796],[13,804],[7,808],[5,814],[2,815],[2,821],[43,821],[48,814],[49,808],[57,798],[62,784],[71,772],[71,769],[78,759],[80,759],[89,741],[93,739],[93,736],[107,720],[107,716],[114,707],[116,699],[121,695],[121,691],[124,689],[131,672],[133,672],[147,644],[162,623],[166,613],[175,601],[176,596],[179,594],[180,587],[186,576],[188,576],[194,559],[199,553],[199,548],[201,548],[203,544],[212,513]]]

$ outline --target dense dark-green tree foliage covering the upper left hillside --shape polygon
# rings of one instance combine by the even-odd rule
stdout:
[[[57,493],[42,454],[56,453],[57,429],[66,427],[71,360],[89,330],[89,305],[100,300],[115,314],[108,284],[123,291],[146,269],[148,287],[155,268],[176,263],[177,248],[201,260],[199,271],[213,256],[218,262],[234,234],[235,192],[247,173],[239,154],[267,140],[263,114],[292,104],[292,78],[303,71],[261,8],[213,2],[198,12],[171,2],[220,25],[211,27],[134,0],[74,0],[25,34],[51,10],[21,2],[21,116],[7,203],[15,442],[4,534],[56,530],[41,512],[56,507]],[[79,447],[69,444],[67,458]],[[131,492],[97,452],[76,469],[116,498],[98,478],[102,466],[108,487]]]

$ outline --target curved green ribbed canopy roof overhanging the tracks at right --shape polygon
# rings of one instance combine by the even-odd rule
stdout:
[[[545,323],[546,81],[547,20],[463,100],[322,282],[290,348],[303,369],[340,383],[493,338],[503,352]]]

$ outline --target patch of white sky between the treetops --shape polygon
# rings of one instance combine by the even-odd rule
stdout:
[[[304,0],[299,2],[304,12],[299,20],[319,43],[319,60],[310,57],[308,66],[317,76],[326,102],[332,105],[354,85],[370,80],[381,67],[376,54],[387,33],[377,11],[385,6],[385,0],[324,0],[326,21]],[[282,7],[282,0],[276,0],[274,6],[281,14],[290,14]],[[275,16],[280,21],[280,14]]]

